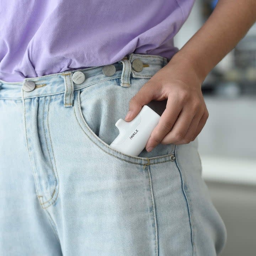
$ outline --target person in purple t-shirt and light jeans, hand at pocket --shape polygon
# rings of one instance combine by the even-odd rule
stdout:
[[[194,0],[1,1],[0,255],[218,255],[201,177],[201,85],[255,22],[219,0],[180,50]],[[161,115],[138,155],[119,118]],[[209,145],[210,146],[210,145]]]

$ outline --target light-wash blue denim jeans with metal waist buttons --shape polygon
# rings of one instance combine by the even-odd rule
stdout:
[[[127,58],[128,57],[128,58]],[[168,60],[0,80],[0,255],[213,256],[226,228],[201,177],[197,138],[138,157],[110,148],[129,101]],[[133,69],[134,59],[143,69]],[[160,115],[166,101],[148,106]]]

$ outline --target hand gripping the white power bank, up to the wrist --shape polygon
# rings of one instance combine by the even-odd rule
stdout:
[[[201,90],[203,80],[186,58],[172,57],[131,98],[127,122],[150,101],[168,98],[165,111],[145,146],[148,152],[159,143],[190,143],[201,132],[209,116]]]

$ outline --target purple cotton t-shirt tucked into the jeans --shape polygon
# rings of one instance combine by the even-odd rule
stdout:
[[[129,53],[171,58],[195,0],[0,0],[0,79],[107,65]]]

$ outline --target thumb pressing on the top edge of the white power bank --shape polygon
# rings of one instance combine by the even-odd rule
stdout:
[[[152,82],[146,82],[129,102],[129,110],[124,118],[130,122],[140,112],[142,107],[154,99],[156,86]]]

